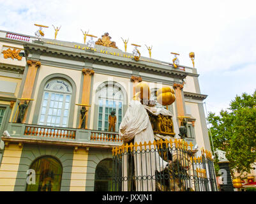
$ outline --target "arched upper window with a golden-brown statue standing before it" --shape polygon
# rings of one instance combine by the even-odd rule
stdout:
[[[116,112],[116,131],[123,118],[124,93],[116,82],[100,87],[98,96],[98,130],[109,131],[109,115]]]

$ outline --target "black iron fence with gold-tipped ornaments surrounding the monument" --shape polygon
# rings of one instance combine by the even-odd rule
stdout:
[[[113,148],[113,191],[217,191],[211,152],[195,157],[192,147],[161,139]]]

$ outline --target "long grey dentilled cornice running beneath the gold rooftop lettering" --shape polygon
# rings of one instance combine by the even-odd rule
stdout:
[[[47,46],[45,46],[47,45]],[[61,55],[66,57],[67,59],[77,61],[86,60],[87,62],[93,62],[93,64],[108,64],[109,66],[116,66],[126,69],[139,69],[139,71],[146,71],[150,73],[154,73],[155,75],[165,75],[172,78],[179,78],[183,80],[186,76],[190,75],[190,73],[186,71],[179,71],[177,69],[172,69],[167,64],[163,63],[153,63],[147,61],[139,61],[136,62],[133,59],[128,59],[126,57],[113,57],[113,55],[105,54],[103,55],[100,52],[89,52],[88,50],[79,50],[71,47],[64,47],[61,45],[50,45],[43,44],[38,45],[36,43],[25,43],[24,50],[28,53],[37,53],[40,55],[49,55],[50,57],[58,57],[57,55]],[[43,63],[45,60],[41,60]],[[47,61],[49,64],[50,61]],[[65,64],[65,62],[57,62],[52,61],[53,64]],[[72,66],[72,64],[70,64]]]

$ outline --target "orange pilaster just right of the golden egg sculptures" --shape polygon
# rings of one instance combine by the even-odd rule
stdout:
[[[173,85],[175,90],[175,97],[176,97],[176,105],[177,105],[177,117],[184,117],[184,106],[183,106],[183,97],[182,97],[182,89],[183,84],[176,84]],[[181,126],[181,122],[183,119],[179,119],[179,127]]]

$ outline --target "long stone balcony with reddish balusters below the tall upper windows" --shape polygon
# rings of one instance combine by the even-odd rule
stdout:
[[[10,133],[10,138],[17,138],[17,140],[29,139],[26,140],[29,142],[36,142],[36,140],[45,141],[45,143],[56,141],[69,143],[70,145],[71,143],[86,143],[88,145],[102,145],[107,148],[116,147],[123,143],[118,133],[93,129],[62,128],[9,122],[7,131]]]

